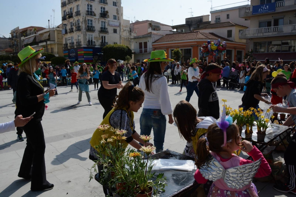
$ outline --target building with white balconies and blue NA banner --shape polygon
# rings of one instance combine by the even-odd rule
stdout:
[[[256,60],[295,61],[295,0],[251,0],[250,5],[239,8],[239,17],[250,20],[250,27],[240,30],[239,38],[250,41]]]

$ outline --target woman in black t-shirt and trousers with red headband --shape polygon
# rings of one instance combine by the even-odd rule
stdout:
[[[112,110],[113,100],[117,95],[117,89],[123,88],[120,75],[116,72],[117,62],[115,59],[108,60],[106,66],[108,66],[108,69],[102,74],[101,86],[98,91],[99,102],[105,110],[103,119],[110,110]]]

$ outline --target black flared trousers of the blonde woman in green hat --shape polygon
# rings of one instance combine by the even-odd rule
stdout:
[[[22,157],[18,175],[20,177],[28,177],[30,171],[32,171],[31,189],[40,189],[42,185],[49,184],[46,180],[45,171],[45,141],[43,128],[40,121],[36,122],[32,119],[28,124],[22,127],[22,129],[26,133],[27,146],[24,156]]]

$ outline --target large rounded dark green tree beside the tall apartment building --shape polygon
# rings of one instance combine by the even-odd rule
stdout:
[[[108,61],[109,59],[115,59],[117,60],[126,60],[126,56],[132,57],[132,51],[131,49],[126,45],[107,45],[104,48],[102,48],[102,53],[104,53],[104,59],[105,61]]]

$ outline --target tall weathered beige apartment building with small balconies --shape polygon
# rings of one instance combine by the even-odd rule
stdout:
[[[93,61],[108,44],[132,48],[129,20],[123,19],[120,0],[61,0],[64,57]]]

